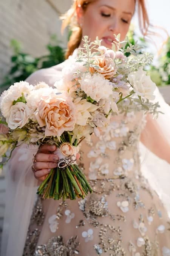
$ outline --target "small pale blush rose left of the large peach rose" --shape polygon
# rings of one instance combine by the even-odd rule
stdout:
[[[23,102],[17,102],[10,109],[9,118],[6,118],[8,127],[10,129],[15,129],[17,127],[22,128],[32,115],[31,109]]]

